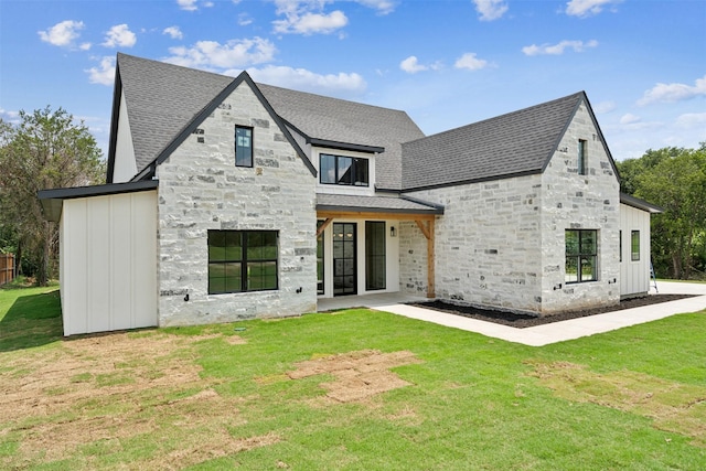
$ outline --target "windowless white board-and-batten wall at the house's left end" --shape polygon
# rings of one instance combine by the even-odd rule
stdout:
[[[157,191],[65,200],[64,335],[158,324]]]

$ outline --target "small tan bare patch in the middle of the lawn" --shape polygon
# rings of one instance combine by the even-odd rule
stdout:
[[[421,363],[408,351],[381,353],[377,350],[341,353],[297,363],[297,370],[288,372],[291,379],[331,374],[334,382],[322,383],[327,397],[339,403],[365,400],[411,383],[391,372],[402,365]]]

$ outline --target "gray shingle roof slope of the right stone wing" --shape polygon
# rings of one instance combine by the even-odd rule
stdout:
[[[539,173],[581,100],[582,92],[404,143],[403,188]]]

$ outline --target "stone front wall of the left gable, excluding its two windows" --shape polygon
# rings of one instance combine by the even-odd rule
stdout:
[[[235,167],[236,125],[254,127],[254,168]],[[160,325],[315,311],[317,179],[246,82],[158,167],[157,176]],[[278,231],[279,289],[208,295],[208,229]]]

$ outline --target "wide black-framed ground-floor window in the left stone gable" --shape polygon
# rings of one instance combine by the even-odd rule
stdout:
[[[277,231],[208,231],[208,295],[278,288]]]

